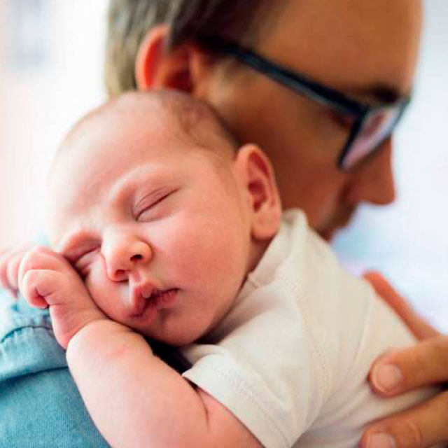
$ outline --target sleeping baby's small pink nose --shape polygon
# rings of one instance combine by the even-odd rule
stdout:
[[[105,237],[102,253],[107,274],[113,281],[127,280],[130,272],[153,257],[151,246],[146,241],[125,232],[113,232]]]

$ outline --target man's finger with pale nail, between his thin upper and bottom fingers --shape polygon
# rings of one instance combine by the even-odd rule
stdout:
[[[370,370],[372,389],[383,396],[448,381],[448,336],[381,356]]]

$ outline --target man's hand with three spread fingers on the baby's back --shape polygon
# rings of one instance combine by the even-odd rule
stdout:
[[[365,278],[421,341],[377,359],[370,370],[372,390],[393,397],[448,381],[448,336],[440,335],[418,316],[383,276],[370,272]],[[448,391],[443,391],[412,409],[374,423],[365,431],[360,447],[423,448],[447,441]]]

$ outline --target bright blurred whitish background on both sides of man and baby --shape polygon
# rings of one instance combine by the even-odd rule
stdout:
[[[35,239],[65,132],[106,98],[107,0],[0,0],[0,247]],[[426,0],[414,102],[395,136],[398,200],[363,207],[333,244],[448,330],[448,1]]]

